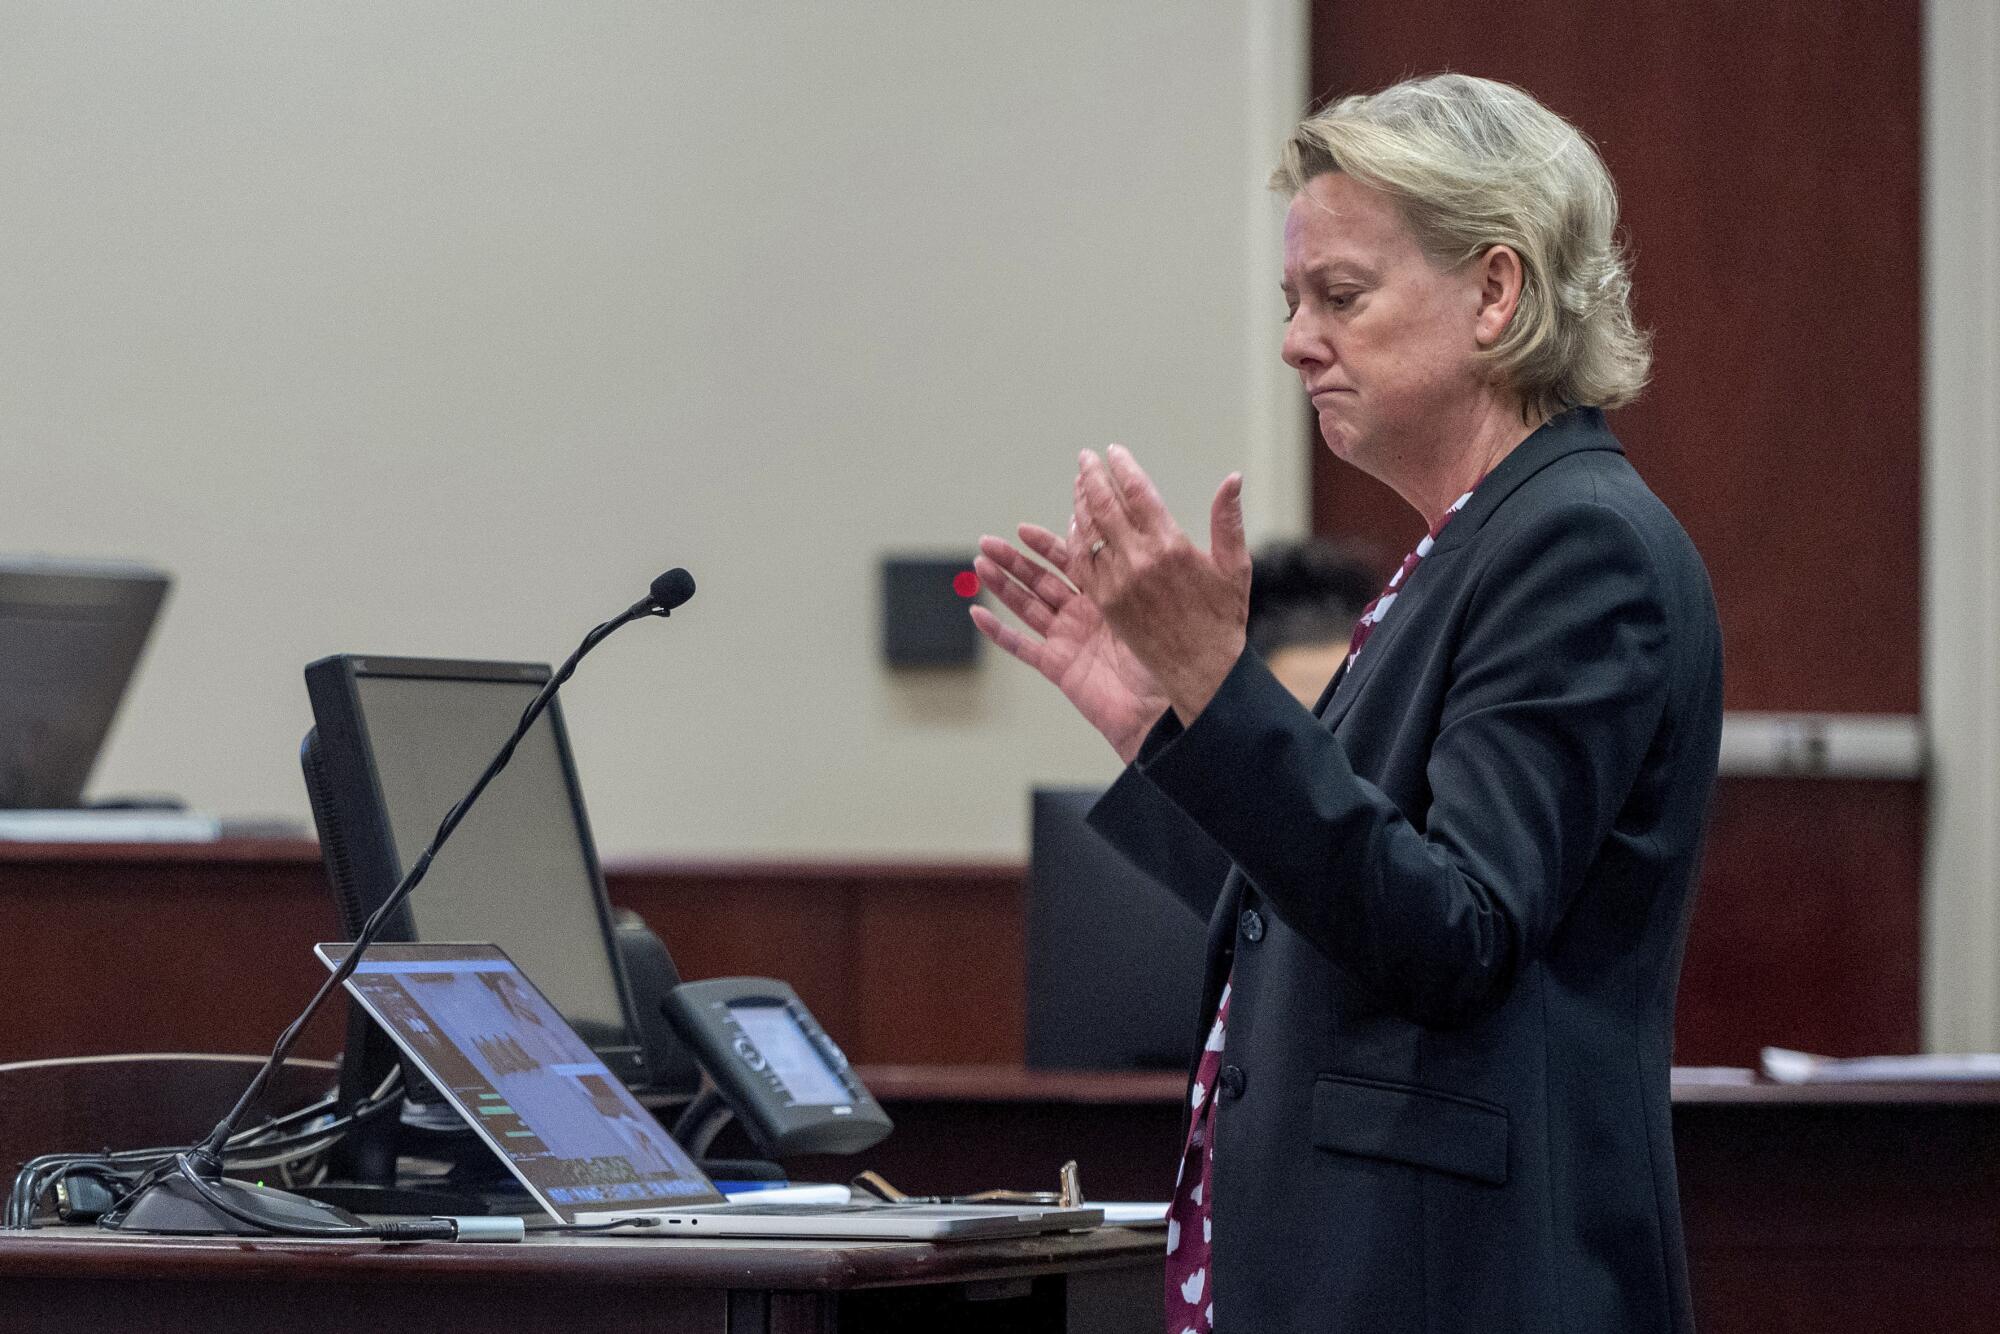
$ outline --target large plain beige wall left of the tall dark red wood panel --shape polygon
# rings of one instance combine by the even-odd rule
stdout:
[[[1300,0],[0,0],[0,550],[178,590],[94,788],[304,816],[300,666],[554,660],[612,854],[1014,856],[1114,762],[876,560],[1132,444],[1302,524]]]

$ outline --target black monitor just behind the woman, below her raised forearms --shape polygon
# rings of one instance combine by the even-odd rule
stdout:
[[[1208,926],[1084,822],[1100,796],[1030,794],[1028,1064],[1184,1070]]]

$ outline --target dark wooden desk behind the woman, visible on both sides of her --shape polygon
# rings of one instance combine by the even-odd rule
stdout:
[[[906,1188],[1046,1188],[1062,1156],[1100,1200],[1172,1186],[1178,1074],[868,1066],[862,1078],[896,1120],[868,1166]],[[2000,1084],[1680,1072],[1674,1154],[1702,1334],[2000,1328]]]

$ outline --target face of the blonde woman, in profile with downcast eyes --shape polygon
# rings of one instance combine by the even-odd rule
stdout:
[[[1284,360],[1326,446],[1372,476],[1422,466],[1486,384],[1474,326],[1482,272],[1440,270],[1386,194],[1314,176],[1284,220]]]

